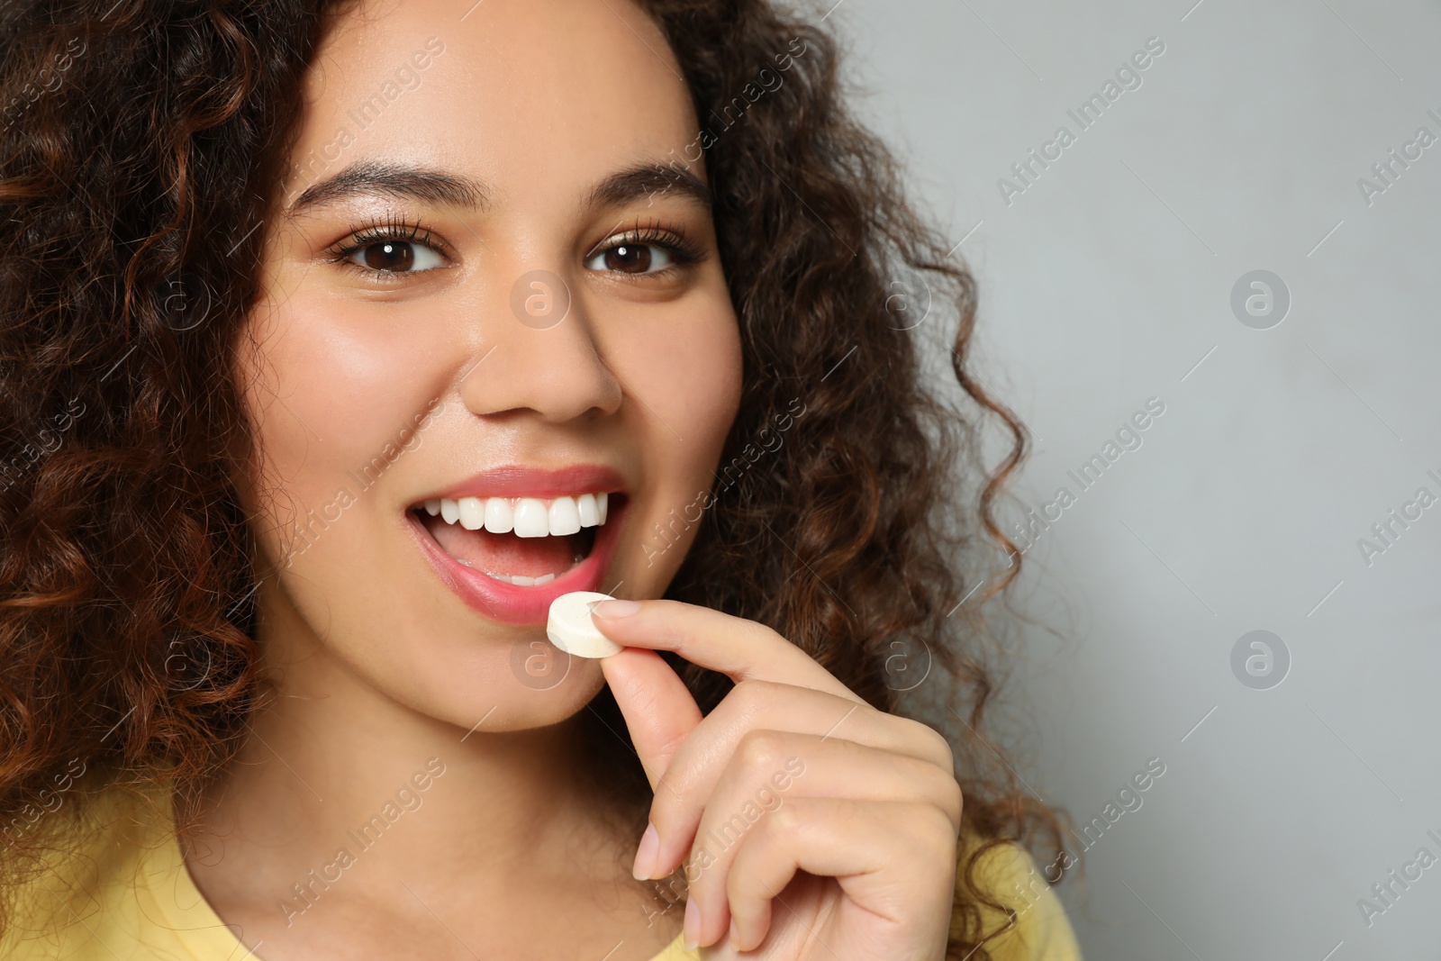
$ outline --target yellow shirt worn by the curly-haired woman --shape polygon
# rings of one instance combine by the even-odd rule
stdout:
[[[82,831],[56,839],[50,870],[19,892],[0,958],[7,961],[251,961],[196,889],[174,837],[169,792],[111,788],[92,801]],[[1061,902],[1016,846],[981,862],[999,900],[1017,912],[987,942],[996,961],[1081,961]],[[1006,926],[987,912],[986,931]],[[677,935],[651,961],[699,961]]]

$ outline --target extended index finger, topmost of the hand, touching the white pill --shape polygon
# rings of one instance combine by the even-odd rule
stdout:
[[[755,621],[680,601],[602,601],[591,620],[617,644],[676,651],[736,683],[771,680],[865,703],[810,654]]]

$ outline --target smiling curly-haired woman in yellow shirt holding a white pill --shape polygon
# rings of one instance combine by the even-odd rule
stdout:
[[[4,957],[1078,957],[953,568],[1025,435],[826,35],[9,10]]]

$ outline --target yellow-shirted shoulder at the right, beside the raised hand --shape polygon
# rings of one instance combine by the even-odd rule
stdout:
[[[968,840],[958,849],[958,890],[965,883],[967,863],[978,847],[978,841]],[[953,931],[994,932],[986,941],[993,961],[1081,961],[1081,948],[1066,911],[1026,849],[1013,843],[984,849],[976,860],[971,880],[1004,909],[983,903],[976,912],[957,912],[951,919]]]

